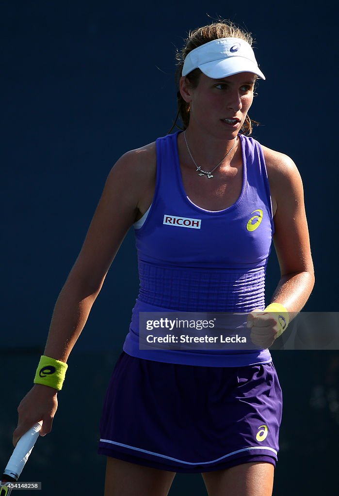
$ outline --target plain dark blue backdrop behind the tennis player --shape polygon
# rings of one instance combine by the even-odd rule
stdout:
[[[330,1],[309,6],[292,0],[1,2],[0,333],[5,361],[0,372],[2,385],[15,391],[8,397],[10,420],[7,417],[1,424],[6,426],[2,433],[6,442],[15,425],[16,405],[30,387],[33,363],[44,346],[55,301],[81,248],[106,176],[122,153],[167,133],[176,114],[176,49],[181,48],[189,29],[218,16],[245,26],[257,40],[256,55],[267,80],[259,82],[259,95],[250,112],[261,123],[254,137],[291,156],[303,178],[317,278],[305,310],[338,309],[338,42],[334,6]],[[278,277],[272,253],[268,298]],[[70,364],[74,361],[73,371],[78,370],[79,356],[99,361],[95,370],[104,377],[91,383],[92,389],[87,391],[95,395],[94,417],[83,414],[81,398],[77,399],[88,429],[98,420],[107,374],[124,342],[137,291],[136,253],[133,233],[129,233],[70,359]],[[107,349],[112,353],[104,353]],[[20,351],[26,354],[18,355]],[[300,434],[304,416],[313,408],[313,389],[326,380],[326,367],[337,359],[326,352],[276,353],[275,363],[285,384],[285,416],[290,421],[285,424],[281,452],[282,459],[283,449],[288,454],[288,471],[291,465],[287,458],[309,439],[308,426],[312,431],[309,423]],[[324,372],[313,374],[319,363]],[[25,372],[16,369],[15,374],[9,373],[14,364]],[[108,364],[107,371],[103,364]],[[338,368],[335,371],[336,382]],[[295,381],[301,372],[304,382],[297,387]],[[69,394],[71,402],[67,390],[62,394],[65,398]],[[329,401],[324,401],[317,417],[317,423],[327,422],[329,429],[320,435],[323,440],[338,435],[337,420],[331,417]],[[72,411],[69,403],[63,408],[68,413],[60,413],[55,424],[60,422],[61,430],[65,422],[66,429],[76,430],[78,420],[67,417]],[[1,419],[2,415],[3,411]],[[291,434],[291,425],[298,434]],[[79,433],[74,435],[73,447]],[[55,442],[56,437],[51,441],[45,438],[40,445],[53,452]],[[6,451],[3,448],[3,460],[8,446]],[[103,461],[94,458],[94,441],[93,446],[86,462],[80,463],[73,455],[69,463],[75,466],[77,460],[83,470],[97,463],[98,472],[102,472]],[[320,458],[324,460],[324,447],[307,446],[315,466]],[[51,474],[53,477],[53,471]],[[32,475],[31,480],[34,478]],[[296,470],[294,484],[301,484],[301,479]],[[281,478],[275,495],[284,494],[283,484]],[[316,482],[312,480],[307,494],[316,494],[312,493],[314,488]]]

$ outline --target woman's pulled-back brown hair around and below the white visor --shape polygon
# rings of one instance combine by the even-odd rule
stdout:
[[[188,38],[185,40],[185,45],[181,52],[178,52],[176,59],[178,61],[176,70],[176,85],[177,85],[177,102],[178,102],[178,113],[175,122],[172,126],[177,126],[179,129],[185,130],[190,122],[190,104],[185,102],[179,91],[179,81],[181,78],[181,73],[183,70],[183,65],[186,56],[195,48],[200,47],[204,43],[209,41],[217,40],[219,38],[240,38],[245,40],[249,45],[252,46],[253,38],[250,33],[239,28],[231,21],[222,21],[208,24],[201,28],[197,28],[194,31],[190,31]],[[199,83],[199,79],[202,72],[200,69],[194,69],[192,72],[187,74],[187,79],[190,82],[191,88],[196,88]],[[182,127],[178,125],[178,119],[180,118],[182,122]],[[253,129],[253,124],[258,125],[256,121],[252,121],[249,116],[246,116],[245,122],[241,128],[244,134],[251,134]],[[172,129],[169,131],[171,132]]]

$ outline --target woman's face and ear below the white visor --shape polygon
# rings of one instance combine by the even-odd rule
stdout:
[[[255,80],[252,72],[240,72],[222,79],[201,74],[197,88],[190,88],[187,78],[182,77],[180,90],[190,104],[190,128],[223,139],[234,138],[252,105]]]

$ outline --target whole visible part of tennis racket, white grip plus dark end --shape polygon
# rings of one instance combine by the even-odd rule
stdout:
[[[38,422],[18,440],[12,456],[9,458],[1,476],[0,496],[10,495],[12,491],[10,485],[18,480],[26,461],[31,454],[35,441],[39,436],[40,429],[41,423]]]

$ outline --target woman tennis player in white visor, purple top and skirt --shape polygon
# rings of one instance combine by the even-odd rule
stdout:
[[[314,273],[298,170],[249,136],[265,79],[251,45],[228,21],[190,33],[178,69],[183,132],[129,151],[110,172],[18,408],[14,444],[39,420],[51,431],[68,356],[134,226],[140,292],[100,425],[106,496],[167,495],[176,472],[202,473],[209,496],[272,494],[282,398],[268,348]],[[281,278],[266,306],[272,239]],[[247,314],[256,348],[139,349],[141,311]]]

